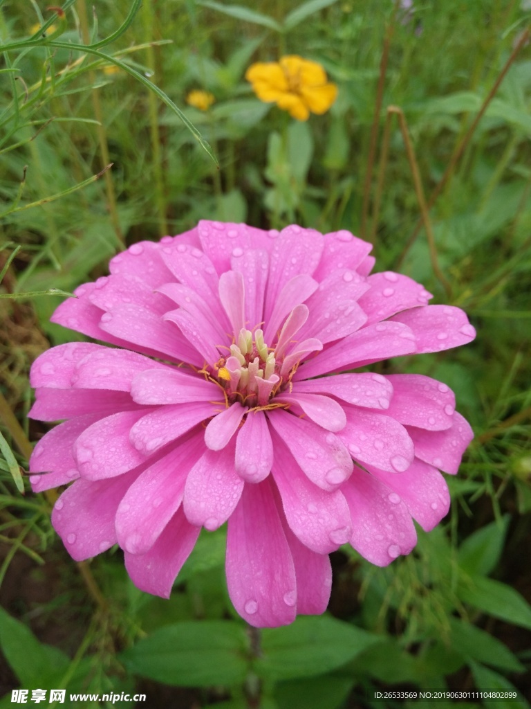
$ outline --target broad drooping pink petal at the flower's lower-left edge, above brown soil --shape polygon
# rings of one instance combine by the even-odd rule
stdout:
[[[59,497],[52,525],[76,562],[95,557],[116,543],[116,510],[139,473],[96,482],[76,480]]]

